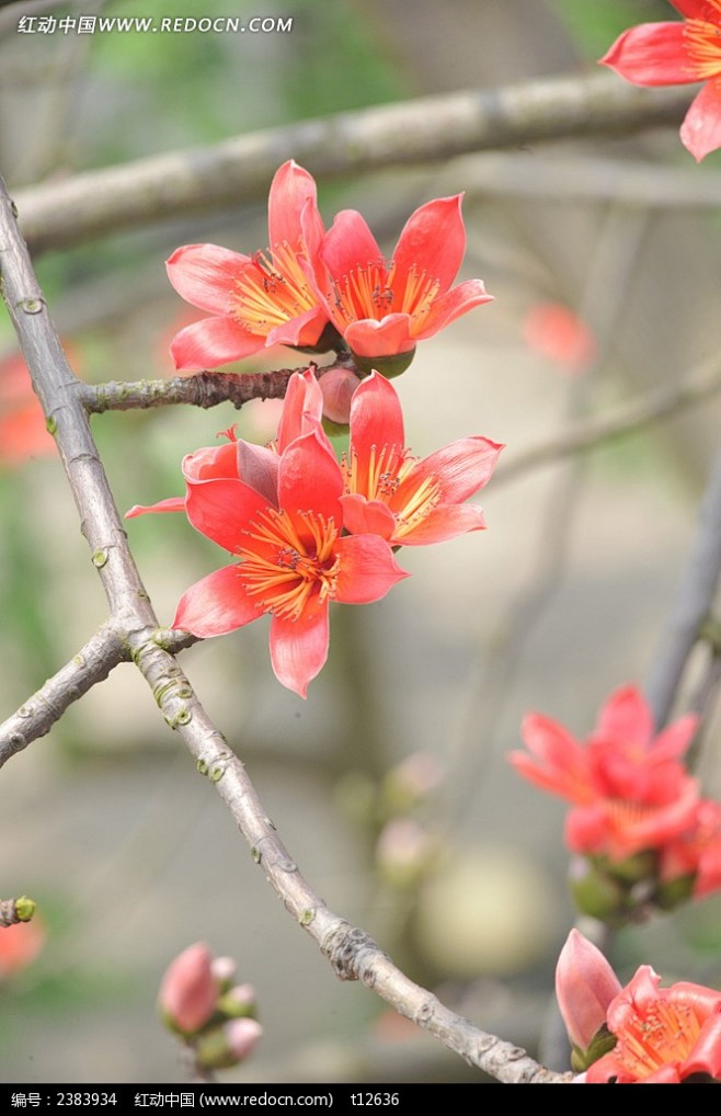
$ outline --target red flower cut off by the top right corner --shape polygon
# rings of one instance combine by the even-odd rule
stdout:
[[[634,85],[705,81],[681,126],[699,162],[721,147],[721,0],[671,0],[683,22],[641,23],[600,59]]]

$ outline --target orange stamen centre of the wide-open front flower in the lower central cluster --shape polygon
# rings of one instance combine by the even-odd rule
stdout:
[[[335,596],[340,569],[333,518],[300,511],[297,519],[301,526],[287,511],[268,508],[243,532],[249,543],[238,550],[248,595],[265,613],[291,620]]]

